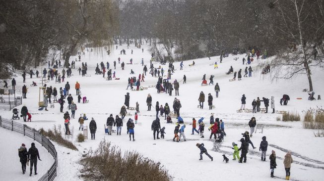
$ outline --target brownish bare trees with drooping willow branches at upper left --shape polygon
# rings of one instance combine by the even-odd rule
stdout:
[[[103,45],[118,31],[112,0],[2,0],[0,71],[39,66],[49,51],[65,62],[82,43]]]

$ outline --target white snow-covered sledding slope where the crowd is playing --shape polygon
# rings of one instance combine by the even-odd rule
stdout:
[[[126,49],[126,55],[118,54],[121,48]],[[131,48],[133,54],[130,54]],[[144,46],[144,49],[148,49]],[[155,161],[161,162],[165,168],[169,170],[169,173],[174,176],[177,181],[197,181],[197,180],[211,180],[214,177],[214,172],[217,173],[217,179],[220,180],[234,180],[242,178],[244,180],[270,180],[269,161],[268,156],[271,150],[276,151],[277,155],[277,169],[274,175],[280,178],[285,178],[285,171],[283,168],[283,158],[287,150],[293,152],[292,157],[294,163],[291,168],[291,180],[296,181],[319,181],[324,176],[324,155],[322,151],[323,138],[314,136],[313,130],[305,130],[302,128],[302,122],[281,122],[276,121],[276,117],[279,114],[252,114],[252,113],[237,113],[236,110],[241,106],[242,94],[247,97],[246,108],[252,108],[252,101],[258,96],[270,98],[275,97],[275,106],[277,110],[285,111],[297,111],[302,114],[302,110],[306,110],[309,107],[316,107],[324,105],[323,100],[308,101],[307,92],[303,92],[303,89],[308,88],[308,80],[305,75],[300,75],[290,80],[276,80],[272,81],[271,74],[261,75],[257,68],[259,64],[270,61],[271,58],[266,60],[255,60],[251,66],[255,70],[253,77],[244,78],[244,69],[246,65],[242,65],[242,58],[244,55],[230,55],[223,59],[222,63],[219,63],[219,56],[208,58],[195,59],[195,66],[189,66],[192,60],[184,61],[184,68],[180,70],[180,62],[174,63],[175,73],[172,75],[172,82],[177,79],[182,80],[183,76],[187,76],[187,84],[180,83],[180,99],[182,108],[180,110],[181,116],[185,120],[186,137],[187,142],[173,142],[173,131],[175,124],[166,124],[166,121],[160,117],[161,127],[166,127],[165,139],[153,140],[153,133],[151,132],[151,123],[155,119],[155,102],[159,101],[160,104],[172,105],[175,98],[175,92],[173,95],[160,93],[158,94],[156,89],[148,88],[142,91],[126,90],[127,80],[130,76],[136,76],[142,73],[143,67],[140,65],[141,58],[144,58],[144,64],[149,68],[150,52],[130,46],[118,46],[118,49],[113,50],[111,55],[102,53],[101,51],[85,52],[85,55],[81,55],[81,62],[87,62],[88,74],[91,77],[81,77],[78,75],[77,69],[81,67],[81,62],[76,62],[74,70],[72,70],[71,78],[66,78],[65,83],[69,82],[71,86],[70,93],[73,96],[74,102],[77,102],[77,96],[75,95],[74,85],[76,81],[80,83],[82,96],[87,96],[89,103],[82,104],[77,103],[78,109],[76,111],[75,119],[71,119],[71,127],[74,128],[74,140],[78,133],[79,124],[77,118],[80,114],[86,113],[89,121],[91,117],[96,120],[97,133],[96,139],[88,139],[83,143],[76,143],[79,151],[72,151],[56,144],[58,150],[59,167],[57,180],[77,180],[78,176],[78,160],[81,158],[83,151],[89,150],[89,148],[95,149],[99,142],[105,138],[111,141],[114,145],[118,145],[122,150],[136,150],[144,156],[150,157]],[[118,64],[118,57],[121,58],[121,62],[129,63],[130,58],[133,59],[133,65],[125,65],[125,70],[121,70],[121,65]],[[233,60],[234,57],[239,57],[237,61]],[[74,60],[76,56],[71,57]],[[117,62],[116,70],[113,68],[113,61]],[[96,64],[100,64],[103,61],[106,66],[106,62],[109,61],[110,68],[116,71],[116,77],[120,80],[106,81],[102,78],[102,75],[94,75],[94,69]],[[214,66],[209,64],[217,61],[218,69],[214,69]],[[155,64],[157,67],[159,64]],[[225,75],[230,66],[233,66],[234,71],[239,71],[242,68],[242,81],[229,82],[229,79],[233,78],[233,74]],[[162,65],[167,73],[168,64]],[[39,72],[42,69],[48,68],[46,66],[39,68]],[[130,75],[130,69],[135,72],[135,75]],[[62,69],[59,69],[61,72]],[[272,73],[272,72],[271,72]],[[219,97],[215,97],[214,86],[201,87],[201,79],[203,74],[206,74],[206,79],[209,80],[210,75],[214,75],[214,84],[218,83],[220,86]],[[107,76],[107,73],[106,73]],[[317,94],[324,95],[323,85],[323,69],[313,70],[313,86]],[[16,78],[16,89],[21,91],[23,85],[21,76]],[[145,82],[141,83],[141,86],[156,85],[157,78],[147,74],[145,76]],[[32,81],[39,83],[39,79],[29,77],[26,79],[26,85],[31,84]],[[58,90],[60,87],[64,88],[65,83],[55,84],[52,81],[47,86],[56,87]],[[209,81],[208,81],[209,83]],[[29,87],[27,92],[27,99],[23,99],[23,104],[28,107],[30,113],[32,113],[32,122],[27,124],[36,129],[39,128],[52,128],[53,125],[64,126],[63,114],[60,113],[60,105],[55,103],[55,108],[49,108],[49,111],[38,111],[38,87]],[[203,91],[206,96],[208,93],[213,95],[213,104],[216,106],[213,110],[208,110],[207,101],[204,102],[204,109],[197,108],[199,92]],[[138,124],[135,125],[135,139],[136,141],[129,141],[129,136],[126,134],[126,122],[128,116],[124,119],[124,127],[122,135],[107,136],[104,132],[104,124],[110,114],[114,117],[119,114],[121,106],[125,101],[126,92],[130,92],[130,106],[135,107],[136,101],[139,103],[139,116]],[[152,111],[146,111],[146,97],[147,94],[152,95]],[[287,106],[280,106],[279,100],[282,94],[288,94],[290,101]],[[301,97],[302,99],[296,99]],[[67,111],[67,104],[65,104],[64,111]],[[264,107],[261,103],[261,108]],[[18,107],[19,109],[21,106]],[[135,111],[130,111],[133,119]],[[269,112],[271,112],[269,110]],[[200,138],[198,135],[191,135],[192,118],[199,119],[205,117],[204,123],[209,125],[209,116],[211,113],[215,113],[214,117],[222,119],[225,123],[225,132],[227,136],[222,143],[215,144],[209,140],[209,134],[205,129],[205,138]],[[5,118],[11,118],[10,111],[1,111],[1,115]],[[263,134],[255,134],[251,140],[254,145],[259,148],[259,143],[262,136],[267,136],[269,143],[267,152],[267,161],[260,161],[260,152],[258,149],[252,149],[248,153],[248,161],[245,164],[239,164],[237,161],[232,161],[230,155],[229,163],[222,162],[222,154],[229,155],[232,153],[232,142],[236,142],[240,146],[241,133],[250,131],[248,122],[251,117],[255,116],[258,124],[264,124]],[[89,121],[85,122],[85,125],[89,124]],[[175,119],[173,119],[175,122]],[[116,129],[116,128],[114,128]],[[81,132],[80,132],[81,133]],[[90,135],[90,133],[89,133]],[[195,144],[204,143],[209,154],[214,157],[214,161],[211,162],[204,156],[204,160],[199,161],[199,149]],[[13,145],[13,149],[16,149],[16,145]],[[9,149],[9,148],[6,148]],[[67,154],[69,152],[69,154]],[[19,167],[18,167],[19,168]],[[6,169],[4,169],[6,170]],[[3,169],[0,169],[2,175]],[[39,172],[40,173],[40,172]],[[41,174],[41,173],[40,173]]]

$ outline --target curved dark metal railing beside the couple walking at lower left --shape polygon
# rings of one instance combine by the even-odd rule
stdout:
[[[46,136],[41,135],[34,128],[30,128],[27,125],[14,122],[13,120],[3,119],[1,116],[0,127],[17,132],[24,136],[28,136],[42,144],[42,146],[44,146],[45,149],[53,156],[54,163],[51,166],[51,168],[47,171],[47,173],[44,174],[38,181],[53,181],[55,179],[58,167],[57,151],[53,143]]]

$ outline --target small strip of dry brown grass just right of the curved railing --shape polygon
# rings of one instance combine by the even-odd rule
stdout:
[[[48,137],[49,139],[57,142],[58,144],[60,144],[62,146],[65,146],[65,147],[70,148],[72,150],[78,150],[71,141],[66,140],[66,139],[64,139],[62,137],[61,126],[56,127],[54,125],[53,130],[49,129],[48,131],[45,131],[43,128],[41,128],[39,130],[39,132],[42,135]]]

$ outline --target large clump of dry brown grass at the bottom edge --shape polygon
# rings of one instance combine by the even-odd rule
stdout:
[[[81,160],[86,181],[172,181],[161,164],[134,151],[121,149],[103,140],[95,151]]]

